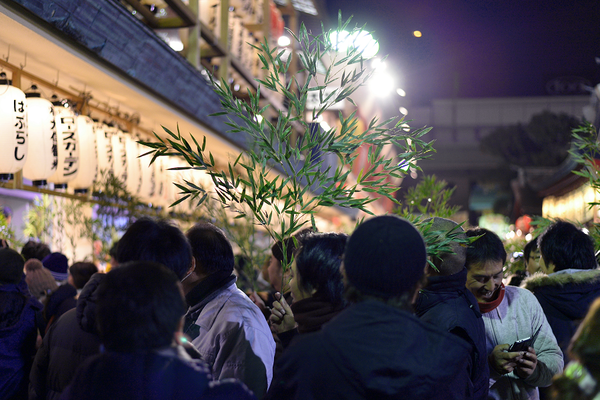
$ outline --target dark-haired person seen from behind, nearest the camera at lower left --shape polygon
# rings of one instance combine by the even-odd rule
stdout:
[[[61,399],[254,399],[239,382],[211,382],[208,366],[178,345],[186,308],[172,271],[152,262],[120,263],[98,288],[106,350],[78,369]]]

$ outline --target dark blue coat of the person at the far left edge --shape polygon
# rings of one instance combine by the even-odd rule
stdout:
[[[38,331],[36,314],[42,305],[29,294],[24,278],[18,284],[0,285],[0,399],[27,395]]]

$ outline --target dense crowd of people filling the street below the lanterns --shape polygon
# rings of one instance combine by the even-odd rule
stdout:
[[[429,255],[396,216],[302,231],[271,248],[262,296],[210,223],[139,219],[108,273],[1,248],[0,399],[600,399],[590,237],[548,227],[519,287],[495,233],[427,223],[460,242]]]

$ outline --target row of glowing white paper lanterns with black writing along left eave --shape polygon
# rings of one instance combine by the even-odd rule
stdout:
[[[34,87],[32,89],[35,90]],[[23,170],[35,186],[86,192],[111,171],[142,201],[168,206],[178,198],[173,182],[182,176],[172,157],[141,157],[148,149],[139,134],[76,115],[67,102],[50,102],[38,92],[23,93],[0,74],[0,178]],[[176,211],[185,211],[180,206]]]

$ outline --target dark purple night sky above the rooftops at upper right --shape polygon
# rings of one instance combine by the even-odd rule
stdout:
[[[326,2],[330,18],[341,9],[367,24],[412,104],[545,96],[558,77],[600,83],[600,0]]]

